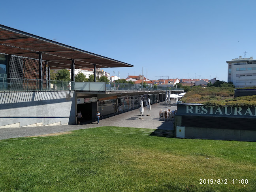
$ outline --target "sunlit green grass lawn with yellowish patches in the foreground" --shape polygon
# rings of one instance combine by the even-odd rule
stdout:
[[[0,191],[256,191],[255,142],[152,131],[100,127],[0,140]]]

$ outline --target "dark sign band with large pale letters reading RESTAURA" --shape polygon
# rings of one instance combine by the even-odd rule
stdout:
[[[200,104],[179,104],[177,115],[218,115],[218,116],[256,116],[256,107],[205,106]]]

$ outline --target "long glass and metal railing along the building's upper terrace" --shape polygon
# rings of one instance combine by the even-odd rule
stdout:
[[[0,78],[0,91],[144,91],[144,90],[177,90],[182,88],[171,88],[154,85],[130,84],[130,83],[109,83],[109,82],[74,82],[55,81],[39,79],[15,79]]]

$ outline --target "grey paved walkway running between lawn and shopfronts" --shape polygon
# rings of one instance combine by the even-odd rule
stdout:
[[[177,109],[176,106],[167,106],[165,103],[158,103],[151,105],[150,116],[147,116],[147,108],[144,107],[144,114],[142,115],[143,120],[139,119],[139,109],[131,110],[125,113],[114,115],[105,119],[100,119],[100,123],[97,121],[88,124],[80,125],[58,125],[58,126],[37,126],[37,127],[18,127],[18,128],[0,128],[0,140],[9,139],[15,137],[26,137],[26,136],[37,136],[41,134],[50,134],[57,132],[64,132],[70,130],[79,130],[100,126],[118,126],[118,127],[135,127],[135,128],[151,128],[161,130],[173,130],[173,119],[170,121],[159,120],[159,111],[163,109]]]

